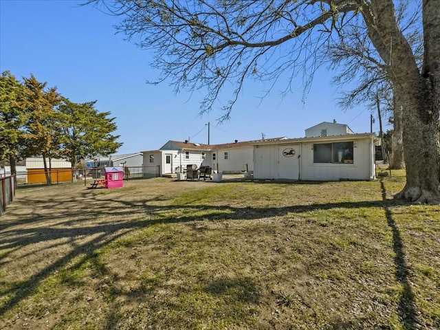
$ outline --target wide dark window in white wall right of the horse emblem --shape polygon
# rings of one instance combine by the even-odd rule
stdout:
[[[353,142],[314,144],[314,163],[353,164]]]

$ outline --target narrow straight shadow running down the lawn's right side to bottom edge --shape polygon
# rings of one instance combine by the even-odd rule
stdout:
[[[393,218],[393,212],[391,212],[386,201],[384,179],[380,180],[380,186],[382,188],[382,200],[384,201],[386,222],[393,232],[393,250],[395,253],[394,263],[397,268],[395,276],[397,281],[402,285],[402,293],[399,300],[399,318],[404,329],[412,330],[416,329],[418,325],[417,310],[415,307],[415,295],[414,292],[412,292],[409,280],[410,273],[405,260],[404,243],[401,239],[397,223]]]

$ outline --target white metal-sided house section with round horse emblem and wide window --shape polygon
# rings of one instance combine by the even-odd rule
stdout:
[[[254,179],[375,179],[375,134],[355,134],[344,124],[322,122],[306,137],[252,144]]]

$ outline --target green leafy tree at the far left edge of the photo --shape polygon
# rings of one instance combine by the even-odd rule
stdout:
[[[8,159],[11,173],[17,173],[20,158],[25,111],[23,85],[10,72],[0,76],[0,160]]]

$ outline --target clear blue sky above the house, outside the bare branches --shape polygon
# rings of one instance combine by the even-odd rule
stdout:
[[[168,140],[221,144],[234,140],[303,137],[305,129],[335,119],[355,133],[370,131],[365,107],[338,108],[333,72],[316,73],[305,103],[301,81],[293,94],[281,97],[276,86],[261,100],[265,84],[247,83],[231,119],[218,124],[219,108],[199,115],[199,91],[175,94],[149,66],[151,54],[115,34],[118,17],[110,17],[78,0],[0,0],[0,71],[21,79],[30,74],[72,102],[98,100],[98,111],[115,117],[122,153],[160,148]],[[269,85],[269,84],[267,84]],[[278,87],[278,89],[277,89]],[[378,131],[378,124],[373,131]],[[391,129],[385,126],[384,130]]]

